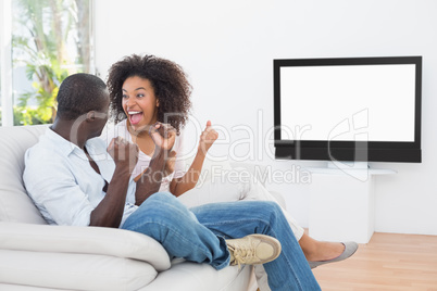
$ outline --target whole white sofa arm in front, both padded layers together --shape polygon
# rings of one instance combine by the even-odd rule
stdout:
[[[0,282],[71,290],[138,290],[168,269],[150,237],[103,227],[0,222]]]

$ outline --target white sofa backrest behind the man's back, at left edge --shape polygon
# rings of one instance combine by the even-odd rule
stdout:
[[[23,186],[24,153],[47,127],[0,127],[0,222],[47,224]]]

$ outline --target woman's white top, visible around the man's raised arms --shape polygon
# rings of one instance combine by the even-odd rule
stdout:
[[[107,143],[107,147],[111,143],[113,138],[121,137],[133,143],[132,136],[127,130],[126,119],[117,123],[114,127],[105,127],[100,138]],[[182,156],[183,154],[183,135],[176,136],[175,144],[173,151],[176,151],[176,156]],[[151,157],[146,153],[139,151],[138,163],[132,173],[132,178],[140,175],[147,167],[149,167]],[[176,159],[174,172],[168,176],[164,177],[161,182],[159,192],[170,192],[170,182],[173,178],[180,178],[185,174],[185,163],[182,159]]]

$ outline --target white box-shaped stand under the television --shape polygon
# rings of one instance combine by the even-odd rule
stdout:
[[[367,243],[374,232],[374,177],[396,172],[362,165],[307,169],[312,177],[310,236],[322,241]]]

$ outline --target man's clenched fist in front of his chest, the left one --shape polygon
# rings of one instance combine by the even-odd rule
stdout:
[[[133,173],[138,162],[138,146],[124,140],[121,137],[113,138],[108,152],[111,154],[118,167],[125,167],[129,174]]]

